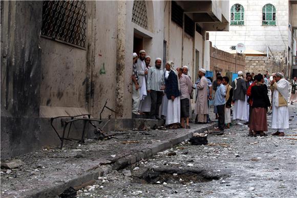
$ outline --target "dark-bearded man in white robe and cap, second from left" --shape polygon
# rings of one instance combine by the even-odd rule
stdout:
[[[138,84],[139,84],[139,93],[140,93],[140,102],[142,102],[146,97],[146,81],[145,75],[147,71],[145,71],[145,51],[139,51],[139,58],[136,63],[137,71],[138,71]]]

